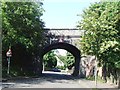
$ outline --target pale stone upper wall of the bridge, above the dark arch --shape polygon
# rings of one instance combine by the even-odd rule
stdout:
[[[49,44],[64,42],[80,48],[78,42],[84,35],[84,30],[78,29],[45,29],[48,31]]]

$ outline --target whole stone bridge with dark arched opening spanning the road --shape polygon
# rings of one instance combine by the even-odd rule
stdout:
[[[47,35],[44,36],[48,39],[48,43],[42,47],[40,58],[40,72],[43,70],[43,56],[53,49],[64,49],[70,52],[75,57],[75,68],[73,76],[79,75],[79,65],[81,59],[80,53],[80,40],[84,34],[83,30],[78,29],[45,29]]]

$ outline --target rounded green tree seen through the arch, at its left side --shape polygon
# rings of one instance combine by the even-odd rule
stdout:
[[[44,60],[44,66],[46,68],[55,68],[57,65],[57,59],[55,57],[56,55],[54,54],[54,51],[49,51],[48,53],[46,53],[43,57]]]

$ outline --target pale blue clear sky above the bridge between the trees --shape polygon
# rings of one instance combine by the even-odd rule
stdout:
[[[44,0],[42,19],[46,28],[76,28],[81,20],[78,14],[99,0]]]

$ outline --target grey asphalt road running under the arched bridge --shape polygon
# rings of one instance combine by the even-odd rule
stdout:
[[[44,72],[37,78],[13,78],[2,83],[2,88],[96,88],[94,81],[73,77],[60,72]],[[107,83],[97,83],[97,88],[115,88]]]

